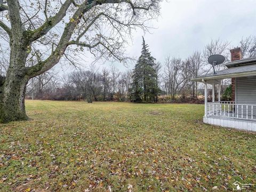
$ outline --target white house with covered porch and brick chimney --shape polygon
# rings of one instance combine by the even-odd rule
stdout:
[[[230,50],[227,69],[194,78],[205,84],[204,123],[256,131],[256,57],[241,59],[240,48]],[[220,100],[221,80],[231,78],[232,101]],[[212,102],[207,101],[207,84],[218,86],[218,101],[212,89]]]

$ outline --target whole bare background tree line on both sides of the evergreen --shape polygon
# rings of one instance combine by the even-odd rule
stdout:
[[[226,62],[230,61],[230,43],[219,39],[211,41],[203,52],[195,51],[187,59],[167,56],[163,63],[157,62],[157,82],[161,87],[162,100],[186,102],[197,99],[201,94],[198,90],[201,83],[191,81],[192,78],[212,73],[207,58],[212,54],[222,54]],[[243,58],[256,56],[256,37],[242,38]],[[217,70],[225,68],[219,66]],[[95,65],[88,70],[76,70],[70,74],[58,77],[54,72],[42,74],[33,78],[27,91],[27,97],[33,99],[86,100],[92,101],[127,101],[132,83],[132,70],[118,71],[116,67],[99,71]],[[33,81],[33,82],[32,82]],[[229,84],[223,81],[223,85]],[[35,87],[33,89],[33,86]],[[222,88],[225,89],[226,86]],[[222,89],[222,91],[224,91]]]

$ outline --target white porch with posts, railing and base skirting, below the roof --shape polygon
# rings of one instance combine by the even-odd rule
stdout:
[[[235,82],[237,82],[237,79]],[[205,84],[205,115],[203,117],[204,123],[247,131],[256,131],[255,103],[237,102],[237,83],[235,84],[235,101],[221,101],[221,80],[222,79],[203,80]],[[249,81],[255,81],[255,77],[249,78]],[[209,84],[212,85],[212,102],[208,101],[207,87]],[[218,101],[215,101],[216,86],[218,87]]]

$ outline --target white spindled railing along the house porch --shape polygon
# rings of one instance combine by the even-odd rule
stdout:
[[[234,101],[208,102],[206,115],[256,120],[256,105],[235,104]]]

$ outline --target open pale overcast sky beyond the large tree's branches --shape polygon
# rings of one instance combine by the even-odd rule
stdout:
[[[167,55],[185,59],[196,50],[202,51],[211,39],[228,41],[233,48],[242,37],[256,35],[255,7],[255,0],[167,0],[162,3],[161,16],[153,21],[156,29],[145,34],[145,41],[161,62]],[[133,44],[127,48],[132,57],[140,55],[142,35],[140,30],[133,34]],[[88,66],[90,59],[84,62]],[[110,63],[98,66],[108,68]],[[126,69],[122,63],[115,66]]]

